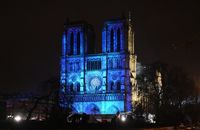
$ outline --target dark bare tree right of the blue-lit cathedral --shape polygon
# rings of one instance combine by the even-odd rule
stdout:
[[[156,81],[156,71],[161,73],[162,86]],[[156,62],[147,66],[137,80],[141,97],[147,100],[141,100],[142,108],[154,113],[157,122],[180,120],[183,106],[196,97],[194,81],[180,67]]]

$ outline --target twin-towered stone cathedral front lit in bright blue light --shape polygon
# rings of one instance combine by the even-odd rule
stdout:
[[[76,113],[132,111],[136,98],[136,55],[132,20],[105,21],[101,53],[85,22],[66,23],[60,61],[60,105]],[[70,101],[69,101],[70,100]]]

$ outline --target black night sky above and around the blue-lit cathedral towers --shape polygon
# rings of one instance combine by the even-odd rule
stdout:
[[[94,25],[100,45],[103,22],[128,11],[140,62],[160,60],[200,79],[198,0],[7,0],[0,3],[0,92],[31,90],[59,75],[67,18]]]

